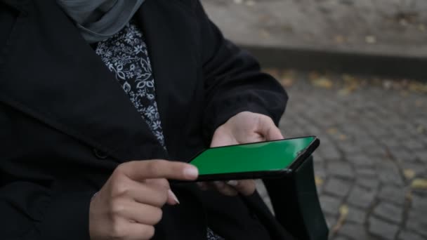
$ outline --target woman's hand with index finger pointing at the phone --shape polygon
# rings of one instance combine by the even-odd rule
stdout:
[[[120,164],[93,196],[89,209],[91,240],[150,239],[164,204],[179,204],[167,179],[195,180],[195,166],[146,160]]]

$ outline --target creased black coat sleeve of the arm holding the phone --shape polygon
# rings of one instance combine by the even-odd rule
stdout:
[[[270,116],[277,125],[288,99],[284,88],[261,72],[249,53],[224,39],[198,0],[195,9],[202,42],[206,139],[230,117],[244,111]]]

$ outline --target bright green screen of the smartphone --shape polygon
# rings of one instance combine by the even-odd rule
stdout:
[[[200,175],[277,171],[287,168],[315,137],[214,147],[196,156],[190,164]]]

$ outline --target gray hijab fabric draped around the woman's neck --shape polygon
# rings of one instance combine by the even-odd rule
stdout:
[[[57,0],[93,44],[119,32],[145,0]]]

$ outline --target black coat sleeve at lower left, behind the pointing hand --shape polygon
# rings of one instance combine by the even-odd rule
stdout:
[[[94,192],[65,194],[32,182],[0,187],[0,239],[85,240]]]

